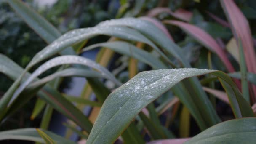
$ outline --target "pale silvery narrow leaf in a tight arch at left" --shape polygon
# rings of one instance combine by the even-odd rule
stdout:
[[[117,85],[120,85],[121,83],[115,79],[115,77],[104,67],[101,67],[99,64],[95,63],[94,61],[91,61],[90,59],[83,58],[81,56],[58,56],[56,58],[53,58],[47,62],[45,62],[43,65],[38,67],[35,72],[32,73],[32,75],[24,82],[22,85],[15,91],[13,94],[12,100],[16,99],[17,96],[29,85],[29,83],[32,82],[37,76],[45,72],[46,70],[56,67],[61,64],[82,64],[85,66],[92,67],[94,69],[97,69],[101,72],[102,75],[106,75],[109,77],[114,83]],[[11,102],[12,102],[11,100]]]

